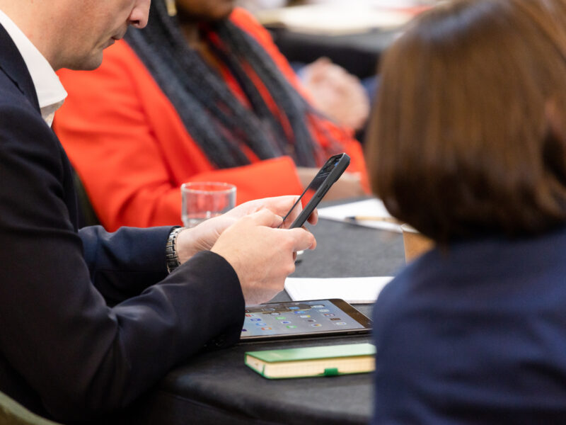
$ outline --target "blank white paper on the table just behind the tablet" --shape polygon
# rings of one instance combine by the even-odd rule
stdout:
[[[287,278],[285,290],[293,301],[341,298],[350,304],[374,302],[391,276],[369,278]]]

